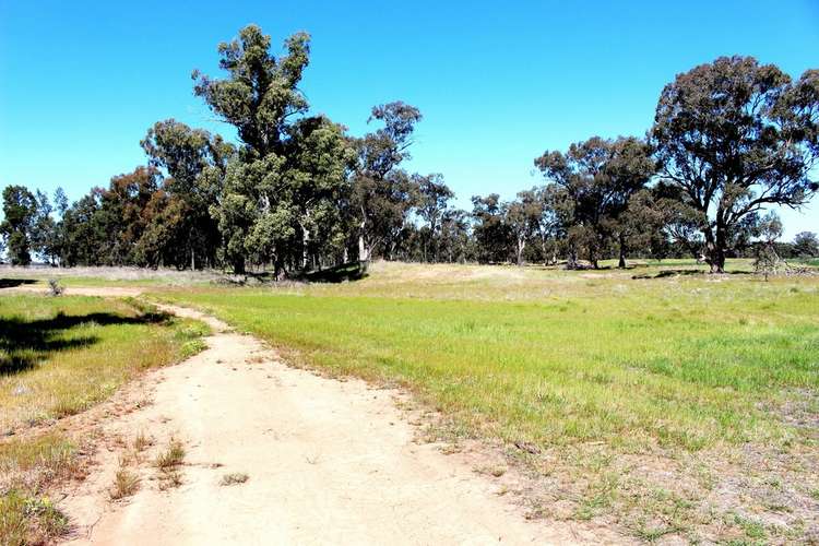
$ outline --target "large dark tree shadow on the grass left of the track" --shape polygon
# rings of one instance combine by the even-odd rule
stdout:
[[[0,318],[0,377],[32,369],[54,353],[97,343],[99,337],[95,335],[64,337],[71,329],[81,324],[94,323],[100,327],[153,324],[168,319],[168,314],[161,312],[146,312],[138,317],[122,317],[110,312],[86,314],[59,312],[50,319]]]

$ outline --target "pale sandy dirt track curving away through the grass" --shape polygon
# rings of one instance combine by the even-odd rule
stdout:
[[[415,442],[417,429],[402,418],[393,391],[289,368],[216,319],[167,310],[209,322],[209,348],[149,373],[128,395],[151,403],[103,420],[103,437],[120,441],[98,450],[91,476],[60,503],[75,523],[70,542],[602,542],[598,531],[526,521],[463,456]],[[111,501],[119,461],[140,432],[154,443],[129,463],[140,489]],[[171,436],[187,452],[182,484],[161,490],[152,459]],[[249,479],[219,485],[227,473]]]

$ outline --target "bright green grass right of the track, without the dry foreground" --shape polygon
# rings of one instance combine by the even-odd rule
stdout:
[[[697,450],[786,437],[759,404],[819,385],[816,286],[652,282],[513,302],[331,296],[323,287],[176,299],[311,365],[411,387],[507,440]]]

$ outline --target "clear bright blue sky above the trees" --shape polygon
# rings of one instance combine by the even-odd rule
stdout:
[[[193,96],[216,45],[257,23],[281,44],[312,35],[312,111],[366,131],[372,105],[419,107],[414,159],[473,194],[542,183],[532,161],[594,134],[643,134],[674,75],[751,55],[793,76],[819,68],[819,0],[64,1],[0,0],[0,186],[72,199],[145,158],[154,122],[233,136]],[[819,199],[781,212],[819,232]]]

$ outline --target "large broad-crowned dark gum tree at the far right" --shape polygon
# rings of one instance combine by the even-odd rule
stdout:
[[[665,86],[651,136],[697,218],[702,258],[721,273],[759,211],[799,207],[819,189],[819,70],[793,81],[751,57],[701,64]]]

